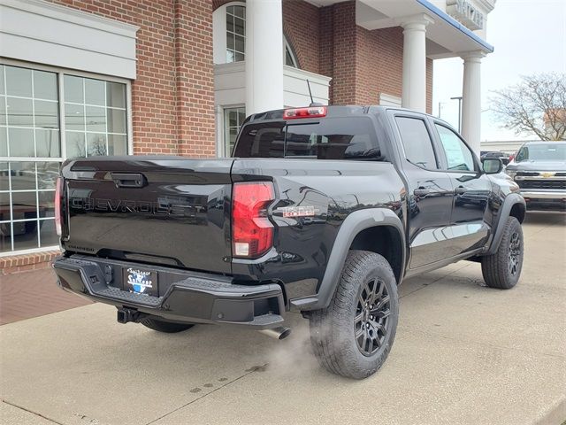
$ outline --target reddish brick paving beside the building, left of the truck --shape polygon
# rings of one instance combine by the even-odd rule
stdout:
[[[91,304],[56,282],[51,268],[0,275],[0,325]]]

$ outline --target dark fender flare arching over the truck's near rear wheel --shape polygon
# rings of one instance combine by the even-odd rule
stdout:
[[[325,275],[318,285],[317,295],[291,300],[291,305],[299,310],[318,310],[330,305],[334,291],[340,282],[340,274],[348,251],[354,238],[366,228],[391,226],[397,229],[402,243],[402,272],[405,267],[407,248],[405,243],[405,228],[399,217],[387,208],[368,208],[350,213],[340,225],[338,235],[333,243],[333,249],[326,262]]]

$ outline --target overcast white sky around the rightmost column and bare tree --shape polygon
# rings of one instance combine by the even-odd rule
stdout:
[[[491,90],[503,89],[532,73],[566,73],[566,0],[497,0],[487,17],[487,42],[495,50],[482,60],[481,140],[526,140],[501,129],[489,108]],[[463,64],[460,58],[434,61],[432,113],[458,124]]]

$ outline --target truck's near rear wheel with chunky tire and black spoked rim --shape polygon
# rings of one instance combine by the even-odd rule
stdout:
[[[371,282],[383,288],[381,300],[388,296],[388,301],[383,306],[384,311],[378,312],[379,319],[377,315],[363,316],[371,313],[368,307],[367,312],[363,309],[363,299],[371,299],[363,295],[367,295],[368,290],[371,290]],[[381,303],[379,298],[373,299],[378,304]],[[374,311],[377,311],[378,304],[374,305]],[[382,315],[385,316],[387,308],[389,313],[384,318]],[[365,319],[356,321],[360,315]],[[370,321],[370,317],[372,320],[375,317],[376,321]],[[363,379],[373,375],[386,361],[391,350],[398,318],[397,282],[389,263],[374,252],[350,251],[330,305],[310,313],[310,342],[318,362],[326,370],[348,378]],[[359,334],[360,330],[365,332],[364,326],[368,327],[368,334],[363,333],[356,338],[356,333]],[[381,328],[386,330],[382,331]],[[375,332],[372,335],[377,336],[377,339],[371,341],[371,349],[363,354],[363,350],[368,346],[364,338],[366,335],[370,338],[370,330]],[[379,335],[383,338],[380,344]],[[359,344],[362,344],[363,348]],[[373,347],[376,347],[375,352],[371,352]]]

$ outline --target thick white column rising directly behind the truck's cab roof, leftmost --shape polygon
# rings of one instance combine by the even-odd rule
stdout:
[[[283,107],[281,0],[246,2],[246,114]]]

